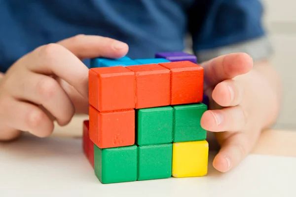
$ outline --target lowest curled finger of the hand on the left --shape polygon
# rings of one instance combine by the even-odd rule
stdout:
[[[53,121],[33,104],[6,98],[5,105],[0,106],[1,122],[11,128],[28,131],[38,137],[49,136],[53,131]]]

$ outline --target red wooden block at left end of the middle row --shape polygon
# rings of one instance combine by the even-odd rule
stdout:
[[[101,149],[135,144],[135,110],[99,112],[89,107],[89,136]]]

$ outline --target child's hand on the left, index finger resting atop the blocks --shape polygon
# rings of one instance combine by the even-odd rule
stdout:
[[[128,45],[114,39],[79,35],[40,46],[15,62],[0,79],[0,140],[21,131],[45,137],[53,121],[70,122],[88,113],[88,68],[84,58],[120,58]]]

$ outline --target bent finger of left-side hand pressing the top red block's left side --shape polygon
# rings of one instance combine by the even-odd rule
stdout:
[[[88,68],[62,45],[48,44],[37,48],[26,56],[23,65],[34,73],[64,79],[84,98],[88,98]]]

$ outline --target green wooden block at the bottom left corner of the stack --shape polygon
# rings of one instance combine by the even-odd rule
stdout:
[[[136,145],[100,149],[94,145],[95,175],[103,184],[136,181],[138,147]]]

